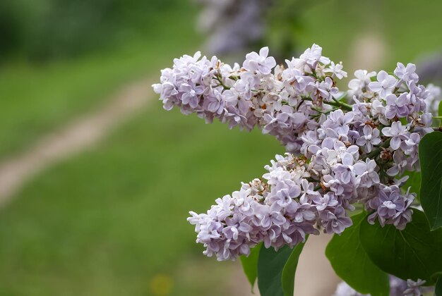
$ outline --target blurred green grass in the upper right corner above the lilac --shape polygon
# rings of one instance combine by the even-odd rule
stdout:
[[[348,67],[354,42],[362,34],[373,33],[386,42],[384,66],[393,70],[398,61],[416,62],[425,54],[442,51],[441,11],[442,2],[431,0],[318,1],[301,15],[303,27],[297,38],[301,50],[320,44],[325,56]]]

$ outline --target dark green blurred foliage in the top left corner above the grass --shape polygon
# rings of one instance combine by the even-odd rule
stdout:
[[[179,0],[0,1],[1,58],[66,58],[148,39],[171,7],[185,13],[190,6]]]

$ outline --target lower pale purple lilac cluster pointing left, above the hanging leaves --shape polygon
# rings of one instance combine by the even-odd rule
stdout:
[[[207,214],[191,212],[188,220],[196,226],[197,242],[207,247],[205,254],[234,259],[259,242],[275,249],[297,245],[307,234],[319,233],[315,225],[330,233],[350,226],[335,195],[314,190],[305,161],[277,155],[262,180],[243,183],[239,191],[217,199]]]

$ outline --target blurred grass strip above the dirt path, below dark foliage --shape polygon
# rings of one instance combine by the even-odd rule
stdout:
[[[97,108],[126,82],[157,75],[174,56],[194,51],[193,13],[190,7],[165,12],[164,23],[150,30],[148,39],[134,36],[101,53],[40,66],[13,61],[0,68],[0,160]]]

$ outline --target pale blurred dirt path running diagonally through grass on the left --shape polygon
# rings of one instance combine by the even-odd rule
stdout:
[[[109,100],[107,105],[49,133],[25,152],[0,164],[0,206],[4,206],[27,180],[83,149],[92,147],[115,126],[152,101],[150,79],[143,78]]]

